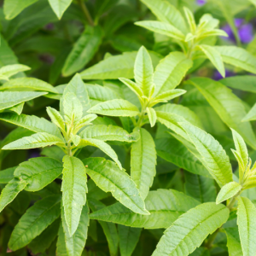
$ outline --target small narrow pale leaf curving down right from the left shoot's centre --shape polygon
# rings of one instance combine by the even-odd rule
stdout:
[[[107,154],[110,158],[112,158],[119,168],[122,170],[122,165],[119,162],[117,154],[113,151],[113,149],[101,140],[96,140],[92,138],[82,139],[78,145],[79,148],[83,148],[85,146],[93,146],[96,148],[100,148],[105,154]]]

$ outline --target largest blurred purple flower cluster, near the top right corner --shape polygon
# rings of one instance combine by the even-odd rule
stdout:
[[[238,36],[241,40],[241,43],[248,44],[253,40],[253,25],[251,23],[245,23],[243,19],[235,19],[235,25],[238,28]],[[234,33],[231,30],[230,25],[226,24],[221,29],[224,30],[229,35],[228,39],[234,43],[236,43],[236,38]]]

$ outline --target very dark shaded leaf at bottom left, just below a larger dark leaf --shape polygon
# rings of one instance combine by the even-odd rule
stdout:
[[[28,247],[32,250],[32,253],[44,253],[58,235],[59,227],[60,219],[57,218],[55,222],[50,224],[46,230],[44,230],[28,245]]]

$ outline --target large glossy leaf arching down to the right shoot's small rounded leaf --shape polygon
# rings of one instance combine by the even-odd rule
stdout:
[[[219,186],[223,187],[224,184],[232,182],[230,159],[218,141],[212,135],[194,125],[189,123],[180,125],[187,132],[190,141],[201,154],[203,165],[207,167]]]

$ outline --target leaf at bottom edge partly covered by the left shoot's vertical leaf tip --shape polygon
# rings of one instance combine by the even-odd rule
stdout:
[[[89,213],[89,207],[85,204],[81,212],[81,217],[79,218],[78,228],[74,232],[73,236],[70,236],[69,229],[65,221],[66,218],[64,217],[64,209],[62,207],[61,219],[67,248],[67,256],[80,256],[82,254],[87,239]]]

